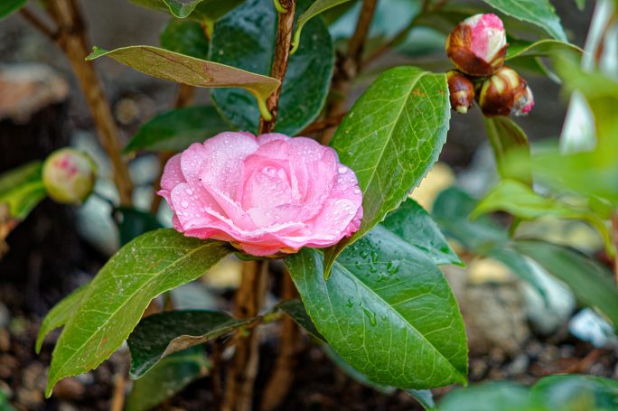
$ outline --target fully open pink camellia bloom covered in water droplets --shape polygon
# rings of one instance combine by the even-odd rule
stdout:
[[[254,256],[325,248],[360,227],[356,175],[310,138],[226,132],[165,164],[173,226]]]

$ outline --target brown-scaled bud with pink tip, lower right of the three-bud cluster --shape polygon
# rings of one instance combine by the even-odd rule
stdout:
[[[482,114],[492,116],[527,115],[534,107],[534,97],[525,79],[508,67],[483,81],[477,101]]]

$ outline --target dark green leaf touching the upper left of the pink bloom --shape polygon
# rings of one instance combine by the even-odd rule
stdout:
[[[153,117],[141,126],[125,147],[125,153],[137,150],[183,151],[192,143],[203,143],[229,126],[215,107],[176,108]]]

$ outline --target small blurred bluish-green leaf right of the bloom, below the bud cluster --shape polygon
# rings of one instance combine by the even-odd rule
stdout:
[[[508,243],[510,238],[507,230],[488,216],[470,219],[477,202],[467,192],[451,187],[435,199],[432,216],[447,235],[462,243],[465,248],[482,254],[497,245]]]

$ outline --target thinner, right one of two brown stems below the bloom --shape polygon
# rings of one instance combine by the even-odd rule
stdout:
[[[298,296],[298,291],[290,277],[285,272],[282,277],[283,299],[291,299]],[[272,411],[281,405],[287,395],[295,377],[295,355],[298,351],[298,337],[300,329],[290,317],[285,316],[281,322],[281,341],[279,345],[279,355],[276,358],[275,370],[268,379],[264,389],[264,397],[260,410]]]

